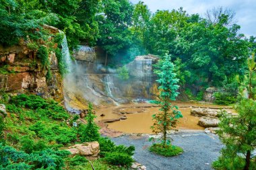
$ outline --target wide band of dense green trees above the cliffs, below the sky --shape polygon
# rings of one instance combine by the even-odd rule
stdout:
[[[96,44],[103,48],[105,65],[108,60],[121,65],[139,54],[168,52],[182,70],[177,69],[179,84],[189,88],[232,83],[236,75],[245,74],[245,62],[255,50],[255,37],[239,34],[234,13],[222,7],[201,17],[182,8],[151,13],[142,1],[133,5],[128,0],[2,0],[0,4],[3,46],[29,42],[31,49],[46,56],[38,42],[47,42],[49,32],[43,26],[48,24],[67,35],[69,47]],[[51,54],[53,46],[47,43]],[[55,52],[62,61],[58,49]],[[40,59],[46,65],[47,58]],[[59,67],[64,72],[63,62]]]

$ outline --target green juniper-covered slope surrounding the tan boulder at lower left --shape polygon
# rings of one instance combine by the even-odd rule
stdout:
[[[0,169],[90,169],[85,157],[69,157],[69,152],[60,149],[95,140],[100,143],[102,157],[93,162],[95,169],[123,169],[115,165],[133,162],[134,146],[117,146],[100,137],[91,104],[87,124],[78,124],[76,128],[70,125],[79,117],[68,114],[51,99],[25,94],[12,97],[5,94],[2,99],[0,103],[5,103],[8,116],[0,116],[0,160],[3,163]]]

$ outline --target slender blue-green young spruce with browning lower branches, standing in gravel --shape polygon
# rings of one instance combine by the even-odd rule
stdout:
[[[179,92],[177,92],[179,79],[176,78],[174,65],[168,54],[158,61],[154,72],[158,75],[156,81],[160,90],[158,100],[154,103],[159,104],[161,108],[158,114],[153,115],[154,124],[152,129],[153,132],[162,132],[162,146],[166,147],[166,145],[170,145],[170,140],[167,139],[167,131],[175,128],[177,120],[183,117],[178,107],[171,103],[179,95]]]

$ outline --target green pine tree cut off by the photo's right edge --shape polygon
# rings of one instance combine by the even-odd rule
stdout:
[[[216,169],[256,169],[256,160],[251,155],[256,146],[256,101],[251,99],[255,66],[253,54],[252,58],[248,59],[249,99],[242,99],[236,105],[238,115],[230,116],[223,112],[220,117],[218,134],[226,146],[222,149],[218,161],[213,164]]]

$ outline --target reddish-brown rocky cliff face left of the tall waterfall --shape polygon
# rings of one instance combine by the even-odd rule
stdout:
[[[0,89],[6,93],[34,93],[63,101],[63,83],[55,54],[49,56],[51,79],[46,79],[36,51],[26,46],[0,46]]]

